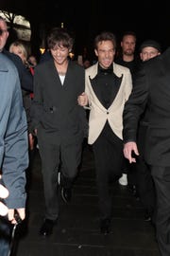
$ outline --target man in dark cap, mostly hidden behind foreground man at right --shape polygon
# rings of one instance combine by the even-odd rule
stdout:
[[[155,58],[161,54],[161,46],[159,42],[155,40],[145,40],[140,48],[140,58],[142,64],[144,62]],[[144,159],[144,137],[147,131],[147,112],[148,109],[145,108],[145,111],[139,121],[138,126],[138,136],[137,136],[137,145],[140,155],[136,163],[133,165],[134,170],[137,176],[137,188],[140,196],[140,200],[144,207],[144,221],[155,222],[155,188],[153,183],[153,178],[150,173],[150,168],[145,162]]]

